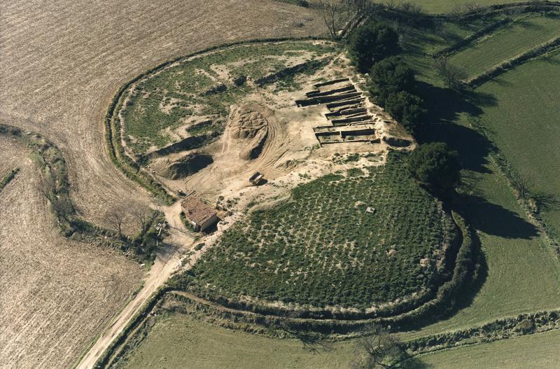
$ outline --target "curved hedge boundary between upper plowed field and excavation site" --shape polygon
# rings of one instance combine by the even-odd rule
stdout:
[[[123,106],[123,97],[125,92],[134,84],[140,81],[142,78],[154,74],[156,72],[169,67],[171,64],[177,62],[183,62],[184,60],[195,57],[197,55],[202,55],[204,53],[210,53],[211,51],[221,50],[225,48],[230,48],[232,46],[239,46],[244,44],[256,44],[256,43],[281,43],[281,42],[289,42],[289,41],[312,41],[312,40],[328,40],[332,42],[331,39],[325,39],[321,37],[280,37],[280,38],[269,38],[269,39],[252,39],[246,41],[236,41],[232,43],[223,43],[218,46],[211,46],[210,48],[205,48],[203,50],[196,51],[195,53],[190,53],[188,55],[181,55],[179,57],[175,57],[170,60],[166,60],[158,64],[157,66],[148,69],[141,74],[138,74],[134,78],[127,81],[124,85],[122,85],[116,94],[111,99],[111,103],[109,104],[109,108],[107,109],[106,115],[103,120],[104,126],[104,137],[105,137],[105,144],[107,153],[109,154],[109,158],[113,165],[115,165],[118,169],[120,169],[125,176],[132,181],[139,183],[140,186],[146,188],[148,192],[154,195],[156,198],[160,199],[165,204],[172,204],[176,200],[179,199],[178,195],[174,193],[171,189],[167,188],[167,186],[163,185],[161,181],[156,179],[151,173],[146,171],[141,165],[138,164],[135,160],[133,160],[130,155],[127,155],[125,152],[125,148],[122,144],[122,130],[120,127],[120,122],[118,119],[118,112]]]

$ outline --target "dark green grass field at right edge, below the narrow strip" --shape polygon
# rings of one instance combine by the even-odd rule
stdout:
[[[528,62],[479,91],[497,99],[482,121],[505,157],[533,190],[560,199],[559,64],[560,54]],[[560,231],[560,209],[545,214]]]

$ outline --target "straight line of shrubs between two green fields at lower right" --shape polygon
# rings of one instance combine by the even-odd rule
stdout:
[[[404,346],[409,354],[418,355],[467,344],[492,342],[519,335],[541,333],[553,329],[560,329],[560,310],[520,314],[512,318],[498,319],[465,330],[421,337],[406,342]]]

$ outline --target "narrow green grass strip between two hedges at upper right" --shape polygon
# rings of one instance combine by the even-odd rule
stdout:
[[[473,77],[557,36],[560,18],[523,17],[454,54],[449,61],[465,68],[468,76]]]

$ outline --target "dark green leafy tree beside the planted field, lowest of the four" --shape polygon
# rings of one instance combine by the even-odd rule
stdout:
[[[447,195],[461,181],[461,162],[444,142],[420,145],[408,160],[412,176],[435,195]]]

